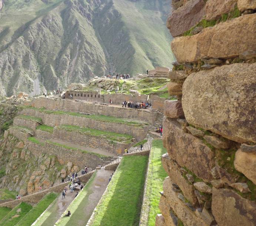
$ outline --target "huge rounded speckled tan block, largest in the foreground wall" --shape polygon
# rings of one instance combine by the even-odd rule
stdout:
[[[240,143],[256,143],[256,63],[223,65],[192,73],[183,84],[189,124]]]

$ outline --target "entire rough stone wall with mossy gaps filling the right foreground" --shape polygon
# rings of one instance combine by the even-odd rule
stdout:
[[[156,225],[255,225],[256,1],[176,0]]]

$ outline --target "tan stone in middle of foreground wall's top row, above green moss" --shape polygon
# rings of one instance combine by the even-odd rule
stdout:
[[[236,6],[237,0],[208,0],[205,3],[206,20],[216,20],[223,13],[229,13]]]

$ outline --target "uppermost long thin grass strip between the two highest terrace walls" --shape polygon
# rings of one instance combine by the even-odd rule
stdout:
[[[101,115],[101,114],[87,115],[87,114],[82,114],[82,113],[77,113],[77,112],[53,111],[53,110],[47,110],[47,109],[44,109],[44,108],[39,109],[39,108],[36,108],[36,107],[29,107],[29,106],[24,106],[24,107],[29,108],[29,109],[33,109],[33,110],[36,110],[36,111],[40,111],[40,112],[43,112],[43,113],[47,113],[47,114],[60,114],[60,115],[67,114],[67,115],[71,115],[71,116],[78,116],[78,117],[94,119],[94,120],[97,120],[97,121],[120,123],[120,124],[126,124],[126,125],[130,125],[130,126],[146,126],[146,125],[149,125],[148,123],[142,122],[142,121],[122,119],[122,118],[117,118],[117,117],[113,117],[113,116]]]

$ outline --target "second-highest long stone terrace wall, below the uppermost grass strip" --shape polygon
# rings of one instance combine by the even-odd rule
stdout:
[[[20,114],[40,117],[43,120],[43,124],[47,126],[60,126],[62,124],[83,126],[97,130],[129,134],[137,140],[142,140],[150,129],[150,126],[129,126],[126,124],[93,120],[86,117],[71,116],[68,114],[47,114],[32,109],[24,109]]]

